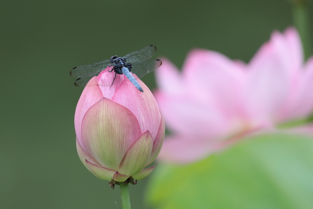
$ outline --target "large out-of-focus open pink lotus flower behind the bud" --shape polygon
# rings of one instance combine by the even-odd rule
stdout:
[[[167,59],[156,71],[156,101],[172,136],[158,159],[188,163],[240,135],[305,118],[313,110],[313,58],[299,34],[275,31],[248,64],[192,50],[182,72]]]

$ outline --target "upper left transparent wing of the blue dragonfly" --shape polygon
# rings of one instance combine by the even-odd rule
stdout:
[[[104,70],[108,65],[110,65],[110,60],[104,60],[101,62],[96,62],[91,65],[82,65],[78,67],[74,67],[69,75],[74,77],[86,77],[86,76],[92,76],[95,73],[100,73],[102,70]]]

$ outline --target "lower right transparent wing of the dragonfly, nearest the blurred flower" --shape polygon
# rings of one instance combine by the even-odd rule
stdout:
[[[148,60],[144,62],[134,62],[131,63],[131,73],[136,74],[138,78],[143,77],[149,72],[154,71],[156,68],[162,65],[161,60]]]

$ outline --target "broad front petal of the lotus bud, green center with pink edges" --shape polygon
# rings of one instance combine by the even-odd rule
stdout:
[[[80,144],[101,165],[118,170],[127,149],[140,134],[139,123],[131,111],[103,98],[86,112]]]

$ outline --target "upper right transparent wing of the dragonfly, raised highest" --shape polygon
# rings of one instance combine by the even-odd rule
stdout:
[[[152,55],[156,52],[155,45],[149,45],[141,50],[131,52],[124,56],[126,62],[143,62],[151,58]]]

